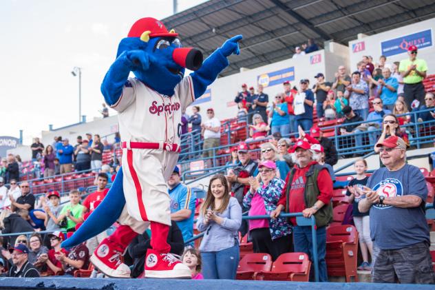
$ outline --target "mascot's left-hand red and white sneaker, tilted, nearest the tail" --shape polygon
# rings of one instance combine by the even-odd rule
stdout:
[[[130,268],[121,258],[125,249],[116,242],[105,238],[89,259],[106,276],[112,278],[130,278]]]

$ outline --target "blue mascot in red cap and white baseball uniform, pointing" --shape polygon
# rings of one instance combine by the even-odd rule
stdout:
[[[240,54],[242,36],[227,40],[204,62],[199,50],[182,48],[177,37],[157,19],[139,19],[120,41],[101,85],[106,103],[118,111],[123,167],[103,202],[62,246],[78,245],[118,220],[118,229],[100,242],[91,257],[95,267],[110,277],[129,278],[121,255],[151,226],[145,277],[191,278],[189,268],[169,253],[167,180],[180,154],[182,110],[229,65],[228,56]],[[184,76],[184,68],[194,72]],[[129,78],[130,72],[136,77]]]

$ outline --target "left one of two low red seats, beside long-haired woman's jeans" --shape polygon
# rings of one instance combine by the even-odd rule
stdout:
[[[259,271],[270,271],[272,257],[268,253],[246,253],[237,267],[237,280],[254,280]]]

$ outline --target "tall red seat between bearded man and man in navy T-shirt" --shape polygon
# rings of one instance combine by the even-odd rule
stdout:
[[[329,276],[345,276],[346,282],[358,282],[358,231],[352,225],[326,229],[326,268]]]

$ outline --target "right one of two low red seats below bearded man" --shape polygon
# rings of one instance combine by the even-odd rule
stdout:
[[[255,280],[308,282],[311,262],[306,253],[283,253],[270,271],[259,271]]]

